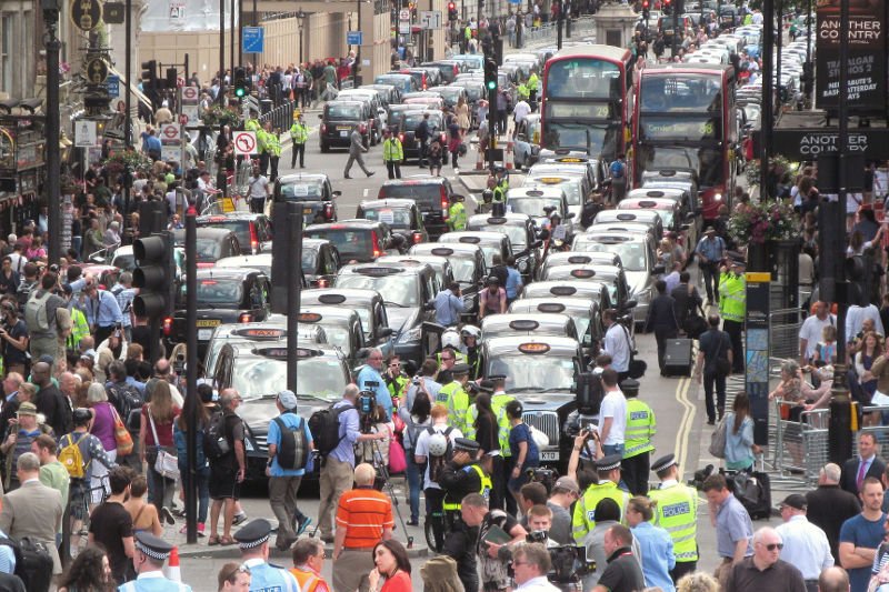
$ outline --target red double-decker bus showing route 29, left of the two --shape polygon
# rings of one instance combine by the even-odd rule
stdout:
[[[547,60],[541,148],[581,150],[605,162],[628,154],[632,64],[630,50],[611,46],[566,48]]]

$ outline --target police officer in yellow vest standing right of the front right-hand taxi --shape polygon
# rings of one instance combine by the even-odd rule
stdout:
[[[655,411],[639,400],[639,382],[627,379],[620,383],[627,398],[627,427],[623,432],[623,482],[633,495],[648,492],[649,454],[655,446],[651,439],[657,431]]]

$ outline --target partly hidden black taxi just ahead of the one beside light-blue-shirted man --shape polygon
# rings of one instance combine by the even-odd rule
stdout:
[[[300,294],[301,307],[338,307],[352,309],[361,319],[364,332],[364,345],[380,348],[383,358],[394,351],[394,331],[389,327],[389,317],[382,297],[376,290],[352,288],[316,288],[303,290]]]

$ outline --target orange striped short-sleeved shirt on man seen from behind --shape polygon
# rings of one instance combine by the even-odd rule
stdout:
[[[392,502],[371,486],[359,486],[340,496],[337,528],[346,529],[346,549],[367,549],[382,541],[384,529],[392,529]]]

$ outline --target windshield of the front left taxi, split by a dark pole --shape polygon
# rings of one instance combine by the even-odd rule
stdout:
[[[232,372],[231,387],[243,399],[277,394],[287,383],[287,362],[269,358],[239,360]],[[297,362],[298,393],[339,398],[346,389],[342,365],[336,358],[316,357]]]

